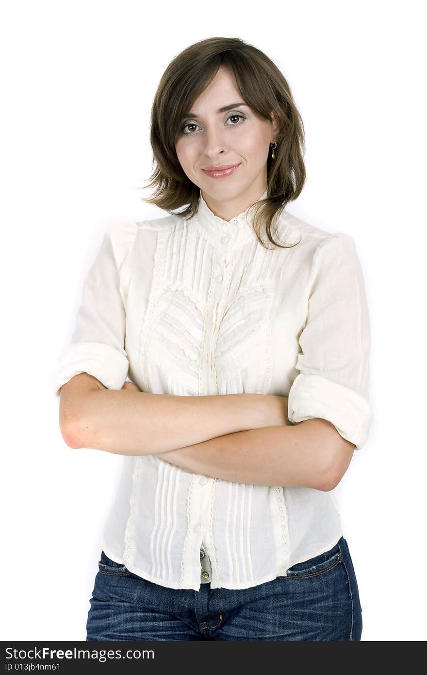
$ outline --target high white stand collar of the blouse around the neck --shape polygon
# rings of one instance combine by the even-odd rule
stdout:
[[[258,200],[265,199],[267,190],[262,194]],[[254,209],[250,213],[251,207],[246,211],[241,211],[231,220],[224,220],[212,213],[202,197],[200,190],[200,198],[196,219],[202,228],[202,232],[208,240],[215,246],[221,248],[230,248],[230,246],[240,246],[246,242],[256,238],[252,223],[254,219]]]

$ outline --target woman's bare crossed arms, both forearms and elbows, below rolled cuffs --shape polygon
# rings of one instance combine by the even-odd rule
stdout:
[[[284,396],[148,394],[129,382],[107,389],[87,373],[61,387],[59,425],[70,448],[159,454],[227,481],[322,491],[341,481],[355,448],[322,418],[291,425]]]

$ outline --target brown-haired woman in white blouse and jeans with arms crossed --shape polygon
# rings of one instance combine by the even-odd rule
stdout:
[[[252,45],[200,41],[151,144],[169,215],[109,228],[55,378],[67,444],[123,455],[86,639],[360,640],[332,490],[372,418],[368,308],[353,238],[285,211],[289,86]]]

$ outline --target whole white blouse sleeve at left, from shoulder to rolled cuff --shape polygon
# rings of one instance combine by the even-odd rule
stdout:
[[[125,352],[125,306],[120,269],[132,247],[136,223],[115,221],[84,281],[71,344],[53,371],[53,390],[79,373],[93,375],[108,389],[121,389],[129,362]]]

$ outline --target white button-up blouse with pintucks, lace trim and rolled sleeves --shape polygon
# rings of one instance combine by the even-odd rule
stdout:
[[[260,197],[265,198],[266,192]],[[84,283],[72,344],[53,389],[86,372],[109,389],[126,379],[175,396],[277,394],[295,424],[324,418],[360,450],[368,402],[370,319],[355,243],[283,211],[266,250],[248,209],[109,227]],[[271,244],[273,246],[273,244]],[[123,456],[103,533],[109,558],[153,583],[246,589],[333,547],[333,492],[192,474],[161,454]]]

